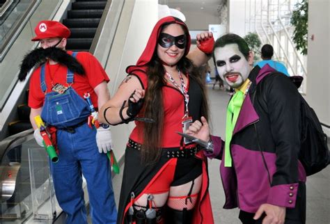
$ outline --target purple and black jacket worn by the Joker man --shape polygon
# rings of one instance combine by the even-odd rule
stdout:
[[[298,161],[299,93],[288,77],[269,65],[255,67],[249,79],[252,84],[230,142],[233,166],[220,165],[226,195],[223,208],[251,213],[264,203],[293,208],[299,182],[306,182]],[[224,141],[217,136],[212,141],[214,152],[207,157],[223,159]]]

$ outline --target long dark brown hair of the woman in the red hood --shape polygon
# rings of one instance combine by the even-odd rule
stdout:
[[[202,89],[203,103],[201,108],[201,115],[208,119],[208,105],[207,105],[207,93],[205,88],[205,82],[202,79],[202,75],[198,73],[197,68],[186,57],[182,56],[178,62],[178,68],[183,74],[189,74],[191,79],[194,79]],[[154,123],[146,122],[143,129],[143,146],[141,148],[141,162],[144,164],[155,163],[159,160],[162,154],[162,133],[164,127],[164,104],[162,88],[166,85],[164,78],[165,74],[164,66],[159,60],[157,53],[152,57],[150,63],[148,63],[148,88],[146,89],[145,96],[145,116],[146,118],[152,118]]]

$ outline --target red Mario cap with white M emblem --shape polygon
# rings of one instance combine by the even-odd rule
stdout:
[[[61,22],[51,20],[40,21],[34,32],[36,33],[36,37],[31,39],[32,41],[45,38],[68,38],[71,33],[68,27],[61,24]]]

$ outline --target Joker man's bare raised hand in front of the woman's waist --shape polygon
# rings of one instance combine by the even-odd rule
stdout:
[[[203,116],[201,117],[201,122],[196,120],[185,133],[203,141],[210,141],[210,127]]]

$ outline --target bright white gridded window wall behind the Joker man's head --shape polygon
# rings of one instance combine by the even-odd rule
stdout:
[[[250,9],[252,19],[249,20],[254,22],[254,31],[262,45],[273,45],[274,58],[283,61],[291,75],[306,77],[306,63],[292,42],[290,18],[295,2],[297,0],[250,0],[255,7],[254,12]],[[306,93],[306,82],[301,85],[300,91]]]

